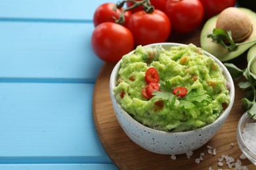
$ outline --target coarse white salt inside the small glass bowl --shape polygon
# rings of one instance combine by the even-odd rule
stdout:
[[[247,123],[244,126],[242,137],[244,143],[253,153],[256,153],[256,123]]]

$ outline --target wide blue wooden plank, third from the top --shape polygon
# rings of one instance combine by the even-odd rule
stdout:
[[[93,123],[93,88],[0,83],[0,163],[111,163]]]

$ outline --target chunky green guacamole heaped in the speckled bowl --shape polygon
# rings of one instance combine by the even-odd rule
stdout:
[[[153,88],[152,96],[146,97],[150,83],[146,72],[152,67],[160,88]],[[175,92],[176,88],[186,92]],[[135,120],[161,131],[189,131],[211,124],[230,103],[223,70],[194,44],[169,50],[137,46],[121,59],[114,93]]]

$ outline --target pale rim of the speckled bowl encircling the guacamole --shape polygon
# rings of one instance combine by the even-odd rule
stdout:
[[[172,46],[188,46],[188,44],[181,44],[181,43],[176,43],[176,42],[158,42],[158,43],[148,44],[145,46],[162,46],[163,48],[164,48],[164,46],[169,46],[169,48],[171,48]],[[198,47],[198,48],[200,48],[200,47]],[[222,120],[223,118],[228,117],[228,115],[230,114],[230,111],[232,109],[232,106],[234,105],[234,97],[235,97],[234,81],[233,81],[232,76],[230,75],[228,69],[226,69],[224,64],[219,59],[217,59],[215,56],[213,56],[209,52],[206,52],[205,50],[202,50],[202,51],[203,51],[203,54],[213,58],[215,60],[215,62],[220,65],[220,67],[223,69],[224,77],[226,78],[227,82],[230,84],[230,91],[229,91],[230,103],[229,103],[228,107],[222,112],[222,114],[213,123],[208,124],[206,126],[199,127],[197,129],[192,129],[190,131],[172,132],[172,131],[161,131],[158,129],[152,129],[151,127],[144,126],[143,124],[141,124],[140,122],[135,120],[135,118],[133,118],[128,112],[126,112],[125,110],[122,109],[121,105],[119,105],[119,103],[116,100],[116,97],[114,96],[114,88],[116,87],[118,71],[119,71],[119,68],[121,67],[121,59],[116,63],[116,65],[110,75],[110,97],[111,97],[112,101],[114,101],[116,103],[116,106],[122,110],[123,116],[128,118],[130,121],[135,122],[135,124],[137,126],[147,129],[148,131],[155,132],[155,133],[162,133],[164,135],[175,135],[175,134],[186,135],[187,133],[189,133],[189,134],[191,134],[192,132],[196,133],[198,131],[203,131],[204,129],[209,129],[209,128],[215,126],[215,124],[217,124],[217,122],[219,122],[219,120]],[[135,50],[132,50],[128,54],[131,54],[133,52],[135,52]]]

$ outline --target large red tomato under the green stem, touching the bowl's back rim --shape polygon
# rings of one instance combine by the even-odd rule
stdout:
[[[167,41],[171,33],[171,22],[161,10],[148,14],[140,10],[131,15],[128,29],[133,33],[135,45],[146,45]]]

